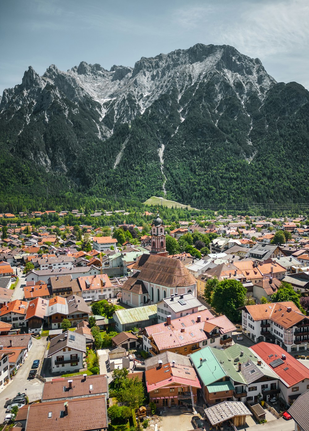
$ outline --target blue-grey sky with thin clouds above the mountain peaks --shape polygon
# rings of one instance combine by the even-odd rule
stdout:
[[[0,94],[28,66],[109,70],[197,43],[232,45],[309,89],[309,0],[0,0]]]

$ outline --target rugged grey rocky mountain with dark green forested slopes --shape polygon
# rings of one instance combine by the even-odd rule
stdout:
[[[308,102],[303,86],[277,83],[228,45],[109,71],[81,62],[40,76],[30,66],[0,101],[0,201],[306,202]]]

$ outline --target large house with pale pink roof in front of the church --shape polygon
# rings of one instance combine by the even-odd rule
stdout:
[[[143,332],[143,349],[152,356],[170,350],[188,355],[207,345],[226,347],[232,343],[235,326],[225,316],[213,317],[209,310],[148,326]]]

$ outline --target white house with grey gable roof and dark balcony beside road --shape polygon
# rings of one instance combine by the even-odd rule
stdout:
[[[66,331],[50,340],[47,358],[51,358],[52,373],[68,373],[83,368],[86,337]]]

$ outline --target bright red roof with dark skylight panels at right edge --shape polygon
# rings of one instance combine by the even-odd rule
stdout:
[[[275,368],[272,368],[271,365],[269,366],[287,387],[291,387],[305,378],[309,379],[309,369],[276,344],[266,343],[263,341],[262,343],[255,344],[250,347],[250,349],[260,356],[262,361],[268,365],[276,359],[275,355],[277,355],[277,358],[281,358],[282,355],[286,356],[283,364],[278,365]],[[269,357],[270,355],[273,356]]]

